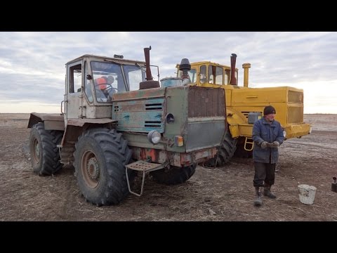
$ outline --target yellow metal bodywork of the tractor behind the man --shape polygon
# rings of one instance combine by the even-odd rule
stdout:
[[[178,77],[181,77],[179,65],[176,67]],[[303,89],[290,86],[250,88],[248,87],[248,71],[251,65],[244,63],[242,67],[245,72],[244,86],[238,86],[230,85],[229,66],[209,61],[191,63],[189,85],[225,89],[230,134],[232,138],[244,138],[244,150],[250,151],[252,149],[253,124],[248,124],[248,114],[249,112],[261,112],[263,115],[263,108],[266,105],[275,107],[277,112],[275,119],[286,131],[286,138],[300,138],[310,134],[310,124],[303,122]],[[215,73],[217,73],[216,78],[213,78]],[[204,79],[205,74],[206,80]],[[216,80],[215,83],[213,83],[213,79]]]

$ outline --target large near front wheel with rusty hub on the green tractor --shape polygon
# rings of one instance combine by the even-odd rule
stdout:
[[[128,195],[125,165],[132,152],[115,129],[88,129],[75,144],[74,167],[81,193],[94,205],[117,205]]]

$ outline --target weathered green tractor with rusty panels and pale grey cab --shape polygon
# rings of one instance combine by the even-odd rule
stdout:
[[[184,183],[198,163],[215,157],[226,130],[224,90],[160,87],[150,49],[145,62],[84,55],[66,63],[61,113],[29,118],[34,172],[72,165],[88,202],[116,205],[143,194],[147,172],[159,183]],[[180,70],[190,70],[187,59]],[[138,193],[134,174],[143,175]]]

